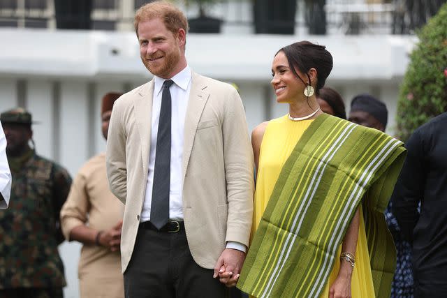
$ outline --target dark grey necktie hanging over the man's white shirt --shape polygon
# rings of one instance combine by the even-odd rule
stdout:
[[[154,184],[152,186],[151,223],[161,229],[169,221],[170,186],[170,91],[172,80],[163,83],[159,132],[156,136]]]

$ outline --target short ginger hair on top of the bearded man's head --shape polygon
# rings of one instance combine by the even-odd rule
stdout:
[[[186,19],[182,10],[179,10],[177,6],[168,1],[152,1],[141,6],[135,13],[133,24],[137,36],[138,24],[140,22],[157,18],[163,20],[166,28],[175,34],[179,29],[184,29],[185,32],[188,32],[188,19]]]

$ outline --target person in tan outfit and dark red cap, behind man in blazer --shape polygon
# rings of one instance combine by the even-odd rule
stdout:
[[[112,105],[121,96],[105,94],[101,105],[102,131],[107,138]],[[66,240],[80,241],[78,267],[80,297],[122,298],[119,243],[124,205],[113,195],[105,174],[105,153],[81,167],[61,209],[61,228]]]

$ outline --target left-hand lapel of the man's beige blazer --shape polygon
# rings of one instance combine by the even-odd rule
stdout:
[[[138,133],[140,134],[143,175],[147,175],[152,128],[152,96],[154,95],[154,80],[145,84],[137,94],[138,96],[134,101],[135,124]],[[145,178],[147,177],[145,176]]]

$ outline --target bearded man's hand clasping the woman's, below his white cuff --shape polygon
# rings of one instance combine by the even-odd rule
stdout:
[[[245,253],[233,248],[225,248],[214,266],[213,278],[228,288],[234,287],[239,279],[240,269],[245,260]]]

